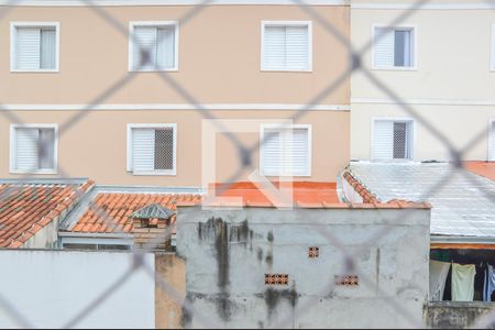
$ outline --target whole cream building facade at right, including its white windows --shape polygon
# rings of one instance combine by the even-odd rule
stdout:
[[[451,145],[465,150],[463,160],[494,161],[495,7],[415,4],[352,2],[352,43],[360,50],[374,41],[362,64],[394,95],[353,75],[351,158],[451,161]]]

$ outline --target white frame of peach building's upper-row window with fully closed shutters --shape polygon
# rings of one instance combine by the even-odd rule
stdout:
[[[266,26],[307,26],[308,28],[308,63],[306,69],[270,68],[265,63],[265,29]],[[261,22],[261,72],[265,73],[312,73],[312,21],[262,21]]]

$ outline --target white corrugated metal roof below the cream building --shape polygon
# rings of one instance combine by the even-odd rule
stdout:
[[[431,234],[495,238],[495,183],[448,163],[353,162],[350,170],[371,193],[432,205]]]

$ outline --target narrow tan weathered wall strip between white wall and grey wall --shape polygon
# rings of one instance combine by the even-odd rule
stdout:
[[[155,274],[156,329],[180,328],[183,308],[177,299],[186,296],[186,265],[175,253],[155,253]]]

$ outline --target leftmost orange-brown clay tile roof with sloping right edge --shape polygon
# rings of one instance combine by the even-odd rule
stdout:
[[[94,186],[82,184],[0,184],[0,248],[22,246],[48,223],[65,215]]]

